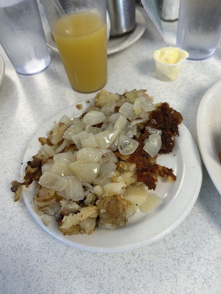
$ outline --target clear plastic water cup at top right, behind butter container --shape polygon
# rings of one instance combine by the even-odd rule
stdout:
[[[220,35],[220,0],[180,0],[176,46],[186,50],[189,59],[210,57]]]

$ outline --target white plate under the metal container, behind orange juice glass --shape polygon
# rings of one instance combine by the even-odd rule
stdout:
[[[126,35],[110,37],[108,41],[108,52],[107,52],[108,55],[116,53],[118,51],[121,51],[131,46],[138,39],[140,39],[140,37],[144,34],[144,31],[145,31],[144,16],[141,14],[140,11],[136,9],[136,28]],[[58,53],[58,49],[55,44],[55,40],[52,36],[51,29],[48,22],[44,25],[44,34],[47,41],[47,46],[53,51]]]

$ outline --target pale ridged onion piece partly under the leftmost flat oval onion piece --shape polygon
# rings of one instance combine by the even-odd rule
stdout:
[[[81,181],[76,176],[64,177],[67,180],[67,186],[64,190],[57,192],[57,195],[63,196],[65,199],[79,201],[84,199],[84,189]]]

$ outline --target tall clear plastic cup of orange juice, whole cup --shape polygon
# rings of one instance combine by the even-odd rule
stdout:
[[[72,88],[89,93],[107,82],[106,0],[42,0]]]

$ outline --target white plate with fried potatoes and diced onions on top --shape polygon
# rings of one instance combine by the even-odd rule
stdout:
[[[27,162],[27,166],[25,163]],[[33,218],[75,248],[120,252],[153,243],[192,209],[202,182],[197,146],[168,103],[145,90],[101,90],[36,133],[13,181]]]

